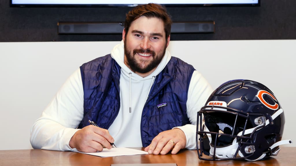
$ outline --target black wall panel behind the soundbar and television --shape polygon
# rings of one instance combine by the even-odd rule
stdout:
[[[121,34],[58,34],[58,22],[124,22],[130,7],[9,7],[0,0],[0,42],[120,41]],[[173,22],[215,21],[215,33],[172,34],[171,40],[296,39],[296,1],[258,7],[167,7]]]

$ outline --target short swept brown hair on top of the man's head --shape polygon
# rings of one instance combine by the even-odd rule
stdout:
[[[168,40],[172,20],[170,19],[170,16],[168,15],[167,10],[164,6],[153,3],[138,5],[134,7],[131,11],[129,11],[128,14],[126,14],[126,20],[124,22],[126,35],[128,33],[129,27],[131,26],[131,23],[141,16],[145,16],[147,18],[161,19],[165,27],[165,39]]]

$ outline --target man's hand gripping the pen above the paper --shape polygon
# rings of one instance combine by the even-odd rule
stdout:
[[[108,130],[89,125],[78,130],[72,136],[69,146],[76,148],[80,152],[101,152],[103,147],[111,149],[112,146],[110,143],[113,142],[114,139]]]

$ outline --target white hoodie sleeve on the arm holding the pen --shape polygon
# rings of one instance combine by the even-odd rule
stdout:
[[[62,85],[31,128],[34,149],[73,150],[69,141],[83,118],[83,85],[80,69]]]

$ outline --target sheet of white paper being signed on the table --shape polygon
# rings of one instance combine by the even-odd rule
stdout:
[[[94,152],[94,153],[84,153],[79,152],[78,150],[75,150],[73,152],[83,153],[83,154],[90,154],[94,156],[99,157],[113,157],[113,156],[128,156],[128,155],[138,155],[138,154],[148,154],[148,152],[137,150],[137,149],[131,149],[131,148],[103,148],[102,152]]]

